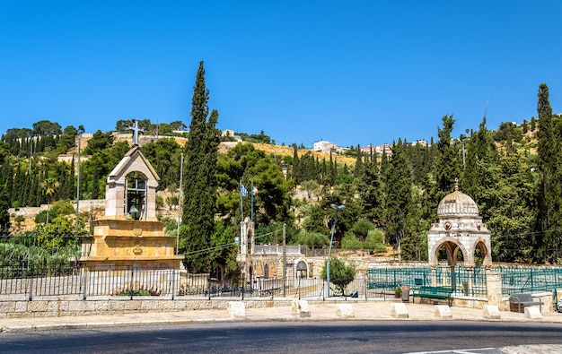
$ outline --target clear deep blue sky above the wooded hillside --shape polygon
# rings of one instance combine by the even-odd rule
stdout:
[[[199,61],[218,127],[278,144],[458,136],[562,112],[562,1],[0,0],[0,134],[41,119],[189,125]]]

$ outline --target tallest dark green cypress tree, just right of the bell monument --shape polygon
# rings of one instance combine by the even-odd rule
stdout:
[[[186,252],[189,272],[209,272],[211,235],[215,232],[216,160],[219,135],[215,128],[218,113],[208,117],[209,91],[205,68],[199,63],[193,88],[189,140],[186,143],[184,203],[180,245]]]

